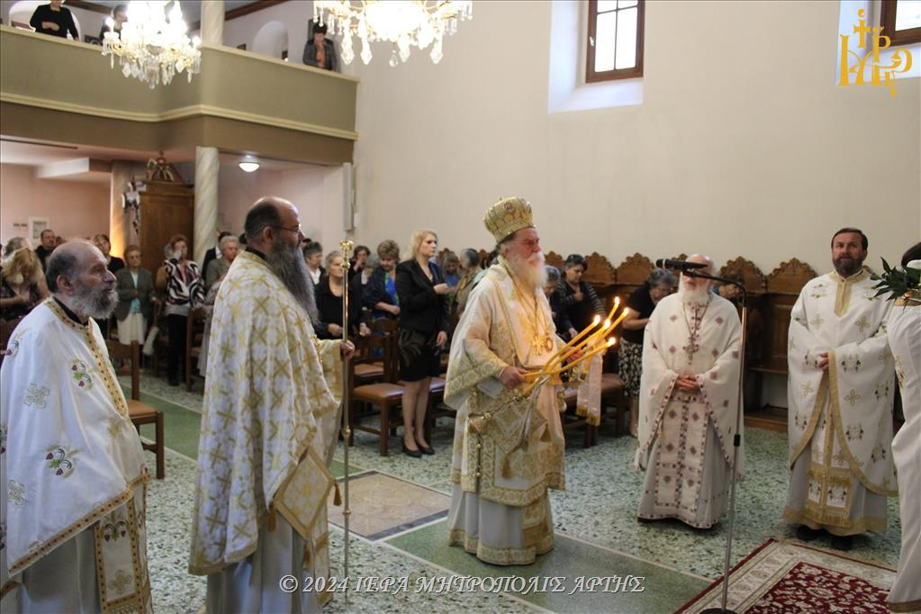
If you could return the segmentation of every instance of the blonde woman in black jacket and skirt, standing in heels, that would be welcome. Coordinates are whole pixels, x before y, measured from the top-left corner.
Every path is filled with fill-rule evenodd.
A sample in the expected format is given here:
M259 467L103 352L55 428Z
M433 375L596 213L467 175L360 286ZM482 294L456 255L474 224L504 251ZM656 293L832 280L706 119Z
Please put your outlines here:
M423 426L428 386L440 372L441 348L448 342L448 284L438 265L438 237L416 230L410 238L409 260L397 265L400 296L400 378L403 380L403 452L419 458L435 454Z

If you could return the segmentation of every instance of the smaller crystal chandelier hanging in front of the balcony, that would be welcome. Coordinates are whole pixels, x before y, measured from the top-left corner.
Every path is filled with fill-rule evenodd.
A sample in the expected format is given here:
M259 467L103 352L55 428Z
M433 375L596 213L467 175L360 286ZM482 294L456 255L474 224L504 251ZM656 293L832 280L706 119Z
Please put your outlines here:
M122 75L134 76L151 89L161 79L163 85L169 85L173 75L183 70L191 83L192 75L198 74L202 52L198 51L201 41L197 36L190 40L187 30L178 0L133 0L121 37L114 30L106 32L102 55L110 56L112 68L118 56Z

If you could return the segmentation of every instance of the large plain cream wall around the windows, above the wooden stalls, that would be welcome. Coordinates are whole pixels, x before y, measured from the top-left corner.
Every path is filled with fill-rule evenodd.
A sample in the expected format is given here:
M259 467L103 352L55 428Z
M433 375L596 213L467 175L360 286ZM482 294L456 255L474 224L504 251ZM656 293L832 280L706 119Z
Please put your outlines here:
M391 68L379 45L352 64L360 242L432 226L488 247L484 210L511 194L545 249L615 265L705 250L824 271L854 225L878 267L921 236L919 80L837 87L839 3L650 1L643 103L548 115L551 8L477 3L437 66Z

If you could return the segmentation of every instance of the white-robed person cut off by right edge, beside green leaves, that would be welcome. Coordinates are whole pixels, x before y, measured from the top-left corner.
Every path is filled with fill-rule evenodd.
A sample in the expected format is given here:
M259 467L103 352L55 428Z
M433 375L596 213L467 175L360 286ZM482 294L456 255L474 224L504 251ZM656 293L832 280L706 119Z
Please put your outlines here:
M909 249L903 265L919 270L918 259L921 243ZM893 612L921 612L921 288L915 287L895 299L887 329L905 418L892 439L899 482L902 552L888 605Z

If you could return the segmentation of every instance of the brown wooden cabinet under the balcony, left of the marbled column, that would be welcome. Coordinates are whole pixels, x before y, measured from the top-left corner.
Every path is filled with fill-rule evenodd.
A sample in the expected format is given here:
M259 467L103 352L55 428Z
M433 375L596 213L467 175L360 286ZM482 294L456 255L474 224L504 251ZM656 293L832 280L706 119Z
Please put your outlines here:
M146 181L147 189L141 192L141 243L143 266L157 273L163 263L163 247L173 235L189 239L188 254L194 253L195 191L192 186L169 181Z

